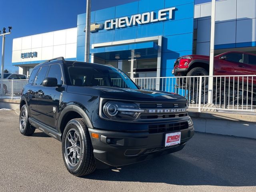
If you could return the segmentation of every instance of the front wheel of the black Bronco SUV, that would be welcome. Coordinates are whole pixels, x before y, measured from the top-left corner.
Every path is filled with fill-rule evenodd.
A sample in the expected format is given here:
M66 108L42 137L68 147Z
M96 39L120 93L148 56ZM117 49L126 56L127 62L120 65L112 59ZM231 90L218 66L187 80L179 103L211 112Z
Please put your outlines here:
M62 157L68 172L75 176L88 175L96 169L90 134L82 118L72 119L66 125Z

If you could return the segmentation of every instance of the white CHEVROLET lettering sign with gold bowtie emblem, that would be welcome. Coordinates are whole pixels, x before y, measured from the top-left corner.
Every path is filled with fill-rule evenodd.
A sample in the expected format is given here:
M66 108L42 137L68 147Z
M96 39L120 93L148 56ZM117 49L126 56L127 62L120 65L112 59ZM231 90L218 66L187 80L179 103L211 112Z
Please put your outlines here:
M166 8L159 10L158 13L155 12L146 12L142 14L136 14L132 15L130 18L128 16L116 18L116 19L110 19L106 20L104 24L97 24L93 23L90 26L91 32L98 32L98 30L113 30L118 28L126 28L130 26L136 26L136 25L143 25L143 24L149 24L159 21L166 21L169 19L172 19L172 13L176 10L175 7L172 8ZM85 32L85 30L84 30Z

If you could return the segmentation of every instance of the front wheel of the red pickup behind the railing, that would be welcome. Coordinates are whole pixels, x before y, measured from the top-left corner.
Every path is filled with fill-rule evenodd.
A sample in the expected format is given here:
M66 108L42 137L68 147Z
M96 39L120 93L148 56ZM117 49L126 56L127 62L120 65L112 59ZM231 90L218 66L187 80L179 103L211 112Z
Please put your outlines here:
M208 75L209 75L209 72L202 67L192 68L187 73L187 76L208 76ZM194 84L194 88L197 87L197 83L199 86L199 78L187 78L187 84L190 85L190 87L193 87L193 84ZM208 84L208 78L202 78L202 86L204 86L204 83Z

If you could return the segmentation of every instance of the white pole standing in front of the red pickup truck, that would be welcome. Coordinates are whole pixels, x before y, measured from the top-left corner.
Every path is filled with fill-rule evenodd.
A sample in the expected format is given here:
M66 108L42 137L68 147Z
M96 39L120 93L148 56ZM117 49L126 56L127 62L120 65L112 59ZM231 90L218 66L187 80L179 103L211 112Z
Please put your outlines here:
M213 67L214 67L214 39L215 39L215 0L212 0L212 16L211 16L211 40L210 40L210 65L208 80L208 103L212 104L213 92Z

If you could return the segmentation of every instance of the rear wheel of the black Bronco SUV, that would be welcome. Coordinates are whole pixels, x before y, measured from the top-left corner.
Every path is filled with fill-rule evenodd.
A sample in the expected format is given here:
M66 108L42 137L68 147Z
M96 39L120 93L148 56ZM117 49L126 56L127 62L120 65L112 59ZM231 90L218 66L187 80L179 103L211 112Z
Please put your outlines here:
M25 136L32 135L36 128L30 125L28 122L28 109L26 105L23 105L20 109L20 133Z

